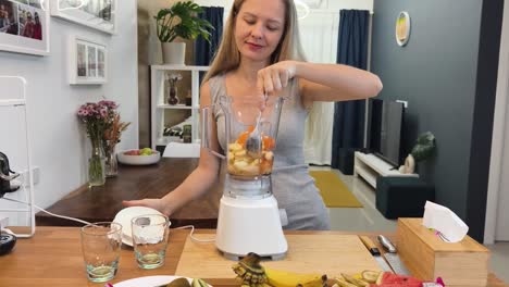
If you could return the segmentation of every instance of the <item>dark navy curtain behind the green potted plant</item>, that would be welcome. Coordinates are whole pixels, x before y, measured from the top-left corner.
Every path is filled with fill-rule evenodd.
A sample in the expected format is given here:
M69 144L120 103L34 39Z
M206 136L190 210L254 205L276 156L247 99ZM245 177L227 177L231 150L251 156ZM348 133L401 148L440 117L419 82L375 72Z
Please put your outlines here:
M207 20L214 27L211 30L210 43L202 37L195 41L195 65L210 65L223 36L223 13L222 7L203 7L203 12L199 14L200 18Z

